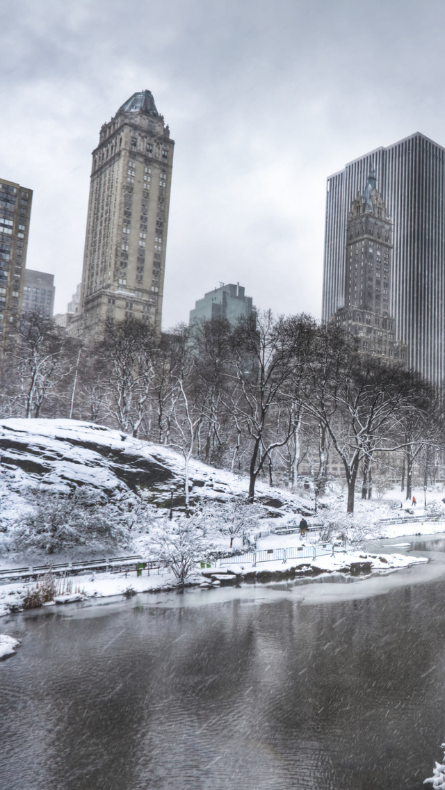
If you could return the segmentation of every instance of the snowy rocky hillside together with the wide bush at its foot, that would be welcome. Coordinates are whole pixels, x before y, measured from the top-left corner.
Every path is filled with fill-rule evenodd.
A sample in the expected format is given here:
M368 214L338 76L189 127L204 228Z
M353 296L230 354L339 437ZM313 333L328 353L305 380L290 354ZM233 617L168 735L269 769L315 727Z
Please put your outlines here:
M151 526L185 505L184 461L92 423L68 419L0 422L0 555L141 550ZM244 500L248 480L190 462L190 506ZM300 518L311 502L258 484L261 517ZM267 529L267 521L262 529ZM258 527L257 527L258 529ZM260 525L261 529L261 525ZM83 547L83 548L82 548ZM28 560L27 560L28 561Z

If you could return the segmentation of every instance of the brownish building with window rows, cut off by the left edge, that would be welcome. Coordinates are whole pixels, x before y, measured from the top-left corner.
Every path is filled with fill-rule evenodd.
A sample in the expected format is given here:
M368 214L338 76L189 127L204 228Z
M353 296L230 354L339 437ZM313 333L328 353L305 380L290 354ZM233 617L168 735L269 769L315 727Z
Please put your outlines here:
M0 349L13 344L23 299L32 190L0 180Z

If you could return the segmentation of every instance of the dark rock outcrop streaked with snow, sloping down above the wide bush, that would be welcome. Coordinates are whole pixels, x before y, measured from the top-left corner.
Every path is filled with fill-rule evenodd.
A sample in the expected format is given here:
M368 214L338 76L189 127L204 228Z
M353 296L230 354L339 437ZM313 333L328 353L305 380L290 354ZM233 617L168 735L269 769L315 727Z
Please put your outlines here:
M31 486L73 490L90 486L107 498L145 490L157 507L183 506L183 456L169 447L143 442L95 423L75 419L3 419L0 421L0 472L19 497ZM15 479L15 482L14 482ZM200 461L190 461L190 502L227 502L247 495L248 480ZM270 514L310 513L310 503L257 483L257 498ZM173 499L172 499L173 497ZM279 508L279 510L278 510ZM273 512L274 511L274 512Z

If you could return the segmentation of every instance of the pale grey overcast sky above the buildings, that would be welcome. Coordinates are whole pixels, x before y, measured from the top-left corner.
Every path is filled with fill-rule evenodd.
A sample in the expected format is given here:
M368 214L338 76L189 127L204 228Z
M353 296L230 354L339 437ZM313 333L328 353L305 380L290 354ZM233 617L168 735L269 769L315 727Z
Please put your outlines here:
M81 280L91 152L132 93L175 140L164 328L219 281L319 317L326 176L445 145L443 0L0 2L0 178L34 190L27 266Z

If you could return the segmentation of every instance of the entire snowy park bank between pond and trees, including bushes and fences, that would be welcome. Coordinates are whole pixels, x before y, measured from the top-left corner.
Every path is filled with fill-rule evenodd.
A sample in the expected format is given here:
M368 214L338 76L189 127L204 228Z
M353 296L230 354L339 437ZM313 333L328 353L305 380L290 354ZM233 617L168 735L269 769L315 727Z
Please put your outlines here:
M320 574L389 574L428 557L403 536L445 531L443 491L357 500L332 480L319 497L248 480L120 431L73 420L6 419L0 430L0 612L194 585ZM375 545L374 545L375 544ZM42 589L45 589L45 592Z

